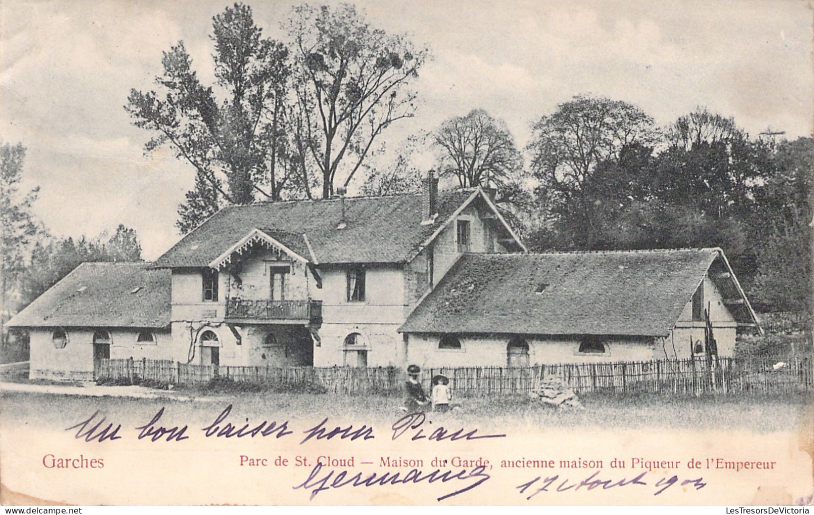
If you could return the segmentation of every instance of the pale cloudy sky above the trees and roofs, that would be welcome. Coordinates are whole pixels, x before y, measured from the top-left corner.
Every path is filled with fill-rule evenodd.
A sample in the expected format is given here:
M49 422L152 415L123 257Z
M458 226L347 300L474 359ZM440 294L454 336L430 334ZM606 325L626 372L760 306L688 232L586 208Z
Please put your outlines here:
M246 3L266 36L284 37L295 2ZM659 125L705 106L752 135L814 132L814 11L802 0L356 3L371 24L433 56L414 84L415 117L383 132L390 147L483 108L523 148L532 123L580 93L631 102ZM151 89L161 52L180 40L211 82L212 16L227 5L3 0L0 139L28 149L24 185L41 188L33 211L52 234L125 223L147 259L180 238L177 206L195 171L169 149L145 156L150 134L124 105L130 89ZM432 155L416 164L429 169Z

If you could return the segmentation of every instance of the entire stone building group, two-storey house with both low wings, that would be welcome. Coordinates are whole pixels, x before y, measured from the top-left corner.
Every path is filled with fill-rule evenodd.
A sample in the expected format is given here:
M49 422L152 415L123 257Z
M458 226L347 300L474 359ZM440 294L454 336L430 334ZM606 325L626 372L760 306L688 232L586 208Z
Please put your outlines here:
M484 188L229 206L153 263L85 263L7 327L94 359L523 366L717 353L755 314L720 249L530 254Z

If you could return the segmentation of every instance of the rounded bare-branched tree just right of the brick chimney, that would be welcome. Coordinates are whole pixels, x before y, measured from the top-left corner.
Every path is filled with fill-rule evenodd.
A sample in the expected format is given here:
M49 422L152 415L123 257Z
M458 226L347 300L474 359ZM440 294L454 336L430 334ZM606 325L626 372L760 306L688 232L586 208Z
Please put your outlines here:
M441 174L454 175L462 188L500 188L523 169L523 156L503 120L483 109L446 120L433 134L440 149Z

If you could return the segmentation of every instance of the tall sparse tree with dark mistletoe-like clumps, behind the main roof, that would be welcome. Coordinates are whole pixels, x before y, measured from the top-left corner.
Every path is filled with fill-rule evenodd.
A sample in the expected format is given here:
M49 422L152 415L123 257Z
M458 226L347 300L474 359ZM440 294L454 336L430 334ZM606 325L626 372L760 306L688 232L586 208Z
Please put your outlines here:
M344 186L392 123L412 117L409 89L427 58L403 36L372 27L351 4L296 6L287 29L295 54L300 143L322 174L322 197Z

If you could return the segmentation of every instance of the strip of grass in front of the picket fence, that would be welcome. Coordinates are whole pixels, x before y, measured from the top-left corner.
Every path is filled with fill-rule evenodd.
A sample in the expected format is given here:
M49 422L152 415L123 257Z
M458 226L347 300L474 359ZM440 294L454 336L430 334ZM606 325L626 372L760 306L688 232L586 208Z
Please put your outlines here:
M186 393L186 392L185 392ZM129 397L58 396L27 392L4 392L0 422L24 422L38 426L64 428L90 416L115 413L120 422L147 422L162 406L166 413L190 423L206 426L225 408L234 405L237 420L302 420L359 426L363 423L388 426L403 413L399 397L330 396L292 393L243 393L209 395L199 401L173 400L169 392L162 399ZM811 431L812 394L774 398L752 396L672 397L584 396L584 409L557 409L523 397L461 399L461 409L453 413L433 413L431 418L453 425L479 427L596 427L596 428L672 428L732 429L743 431Z

